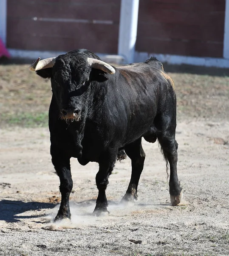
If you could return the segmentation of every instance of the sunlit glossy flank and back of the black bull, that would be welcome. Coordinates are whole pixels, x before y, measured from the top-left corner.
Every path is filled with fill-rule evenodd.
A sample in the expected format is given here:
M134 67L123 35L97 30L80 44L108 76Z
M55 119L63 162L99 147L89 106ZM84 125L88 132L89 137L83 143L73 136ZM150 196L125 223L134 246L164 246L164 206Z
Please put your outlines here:
M119 67L115 84L108 86L111 124L124 144L147 134L164 104L170 86L163 68L149 63L136 63ZM122 130L122 131L121 131Z

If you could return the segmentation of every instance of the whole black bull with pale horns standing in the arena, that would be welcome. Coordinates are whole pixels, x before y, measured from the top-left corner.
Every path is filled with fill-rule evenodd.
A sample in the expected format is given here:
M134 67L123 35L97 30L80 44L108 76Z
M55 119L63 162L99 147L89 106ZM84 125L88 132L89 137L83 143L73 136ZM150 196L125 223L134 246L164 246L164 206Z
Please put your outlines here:
M45 64L39 60L30 68L50 78L53 91L49 109L51 156L62 196L55 220L71 217L71 157L82 165L99 163L96 215L107 212L108 177L125 153L131 159L132 174L122 200L137 199L145 159L141 137L151 143L158 139L170 164L171 203L179 204L182 190L177 176L176 95L161 62L150 58L118 68L102 61L100 66L92 65L91 61L98 62L99 57L85 49L45 59Z

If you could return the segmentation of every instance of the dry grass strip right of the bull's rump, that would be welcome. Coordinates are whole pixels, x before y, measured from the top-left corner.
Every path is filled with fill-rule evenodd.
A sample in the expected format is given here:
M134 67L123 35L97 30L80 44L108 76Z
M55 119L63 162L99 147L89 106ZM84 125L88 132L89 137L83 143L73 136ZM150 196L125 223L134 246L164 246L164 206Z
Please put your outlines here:
M229 119L229 76L170 73L175 81L178 113Z

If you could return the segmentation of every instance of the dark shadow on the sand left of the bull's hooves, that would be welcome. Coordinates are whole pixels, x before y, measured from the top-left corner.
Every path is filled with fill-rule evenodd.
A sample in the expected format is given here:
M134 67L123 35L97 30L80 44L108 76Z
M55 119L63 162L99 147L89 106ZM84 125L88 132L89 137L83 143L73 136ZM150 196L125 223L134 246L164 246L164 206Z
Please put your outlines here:
M2 200L0 201L0 220L7 222L17 222L23 218L40 218L43 215L32 215L32 216L17 216L17 214L27 212L29 210L39 210L39 209L51 209L54 208L56 204L51 203L41 203L41 202L23 202L23 201L11 201Z

